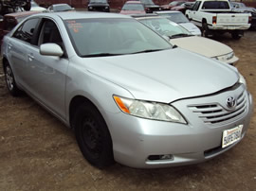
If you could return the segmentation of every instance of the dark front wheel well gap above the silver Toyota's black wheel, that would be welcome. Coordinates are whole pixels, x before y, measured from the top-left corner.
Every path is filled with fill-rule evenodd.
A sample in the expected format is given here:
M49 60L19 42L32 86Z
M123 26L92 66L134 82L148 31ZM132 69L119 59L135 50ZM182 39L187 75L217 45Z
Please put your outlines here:
M78 108L78 106L82 105L85 102L91 103L92 105L94 105L89 99L87 99L84 96L73 97L69 104L69 123L72 129L74 128L73 118L76 113L76 109ZM95 106L95 108L97 107Z

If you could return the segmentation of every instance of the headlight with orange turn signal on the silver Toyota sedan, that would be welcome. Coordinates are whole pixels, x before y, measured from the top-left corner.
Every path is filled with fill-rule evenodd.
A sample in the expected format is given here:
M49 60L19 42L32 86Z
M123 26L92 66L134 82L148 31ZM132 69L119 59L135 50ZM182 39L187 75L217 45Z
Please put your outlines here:
M114 99L123 113L147 119L187 124L183 116L168 104L123 98L120 96L114 96Z

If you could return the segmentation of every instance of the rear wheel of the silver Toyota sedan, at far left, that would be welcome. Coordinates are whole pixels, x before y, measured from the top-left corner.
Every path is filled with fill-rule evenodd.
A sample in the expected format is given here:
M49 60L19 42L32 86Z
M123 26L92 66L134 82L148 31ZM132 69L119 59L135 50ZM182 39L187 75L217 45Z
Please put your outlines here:
M11 96L21 96L22 91L17 87L12 69L8 62L4 63L4 72L7 88Z

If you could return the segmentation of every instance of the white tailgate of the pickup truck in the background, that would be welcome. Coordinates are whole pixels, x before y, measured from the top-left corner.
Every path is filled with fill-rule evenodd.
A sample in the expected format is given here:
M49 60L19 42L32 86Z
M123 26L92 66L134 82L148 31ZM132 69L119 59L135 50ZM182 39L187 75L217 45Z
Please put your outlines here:
M217 13L218 25L247 25L248 13Z

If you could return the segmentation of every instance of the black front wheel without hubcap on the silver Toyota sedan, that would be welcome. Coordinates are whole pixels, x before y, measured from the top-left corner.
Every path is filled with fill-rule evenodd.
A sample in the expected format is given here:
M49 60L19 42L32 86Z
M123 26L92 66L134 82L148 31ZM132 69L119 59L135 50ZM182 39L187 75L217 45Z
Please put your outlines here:
M112 139L106 123L90 102L76 110L72 120L76 139L84 158L98 168L114 164Z

